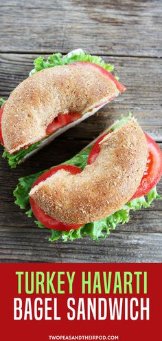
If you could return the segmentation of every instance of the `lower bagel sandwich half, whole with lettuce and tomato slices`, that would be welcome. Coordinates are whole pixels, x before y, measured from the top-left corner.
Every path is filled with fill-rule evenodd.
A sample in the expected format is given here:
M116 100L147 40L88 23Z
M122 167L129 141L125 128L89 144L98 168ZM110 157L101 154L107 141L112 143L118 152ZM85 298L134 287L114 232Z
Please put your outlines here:
M16 205L51 229L50 241L98 240L127 223L130 209L160 198L162 153L130 116L122 117L71 160L19 179Z

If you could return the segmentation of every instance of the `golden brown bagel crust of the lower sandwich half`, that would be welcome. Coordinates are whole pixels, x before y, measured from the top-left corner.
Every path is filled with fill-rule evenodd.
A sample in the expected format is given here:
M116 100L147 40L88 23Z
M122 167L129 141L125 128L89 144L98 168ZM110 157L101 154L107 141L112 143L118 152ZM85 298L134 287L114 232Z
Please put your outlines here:
M51 217L65 223L100 220L135 194L148 157L146 137L134 118L108 134L92 165L80 174L60 170L35 186L30 196Z

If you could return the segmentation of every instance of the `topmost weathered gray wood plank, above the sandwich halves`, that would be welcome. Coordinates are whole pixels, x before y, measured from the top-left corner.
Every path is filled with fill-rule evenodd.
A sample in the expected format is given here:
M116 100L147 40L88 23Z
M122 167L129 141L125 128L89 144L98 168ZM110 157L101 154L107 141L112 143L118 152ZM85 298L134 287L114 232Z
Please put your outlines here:
M1 52L161 56L161 1L1 0Z

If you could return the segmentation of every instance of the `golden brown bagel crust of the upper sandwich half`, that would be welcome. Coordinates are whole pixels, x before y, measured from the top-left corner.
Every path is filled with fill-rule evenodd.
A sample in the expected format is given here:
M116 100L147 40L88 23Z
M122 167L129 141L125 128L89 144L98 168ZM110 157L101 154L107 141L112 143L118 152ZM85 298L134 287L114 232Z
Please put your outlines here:
M45 138L59 113L87 112L119 90L104 74L82 65L42 70L25 79L10 94L2 116L2 136L9 153Z

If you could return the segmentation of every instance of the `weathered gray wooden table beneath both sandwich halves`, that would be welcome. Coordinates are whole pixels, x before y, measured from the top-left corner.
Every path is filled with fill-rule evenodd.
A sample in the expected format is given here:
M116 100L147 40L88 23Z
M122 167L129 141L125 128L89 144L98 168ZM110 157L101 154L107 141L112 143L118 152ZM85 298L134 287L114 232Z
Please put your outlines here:
M8 98L40 54L75 48L114 63L128 87L100 114L69 130L17 169L11 170L0 159L1 262L161 262L160 200L150 209L132 213L130 223L99 243L88 238L49 243L47 231L38 229L14 205L12 191L20 176L70 158L128 111L161 145L162 2L1 0L0 4L0 96ZM160 185L158 189L162 194Z

